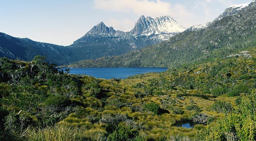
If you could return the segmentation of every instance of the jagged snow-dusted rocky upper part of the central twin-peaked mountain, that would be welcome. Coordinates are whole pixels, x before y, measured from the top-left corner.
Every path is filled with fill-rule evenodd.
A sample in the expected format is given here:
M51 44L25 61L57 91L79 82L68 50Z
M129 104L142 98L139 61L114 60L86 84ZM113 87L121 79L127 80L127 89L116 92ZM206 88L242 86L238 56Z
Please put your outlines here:
M134 28L129 32L116 31L113 27L107 27L103 22L100 22L74 43L95 41L95 37L114 37L111 40L133 40L139 36L163 41L185 31L185 29L170 16L161 16L153 19L152 17L142 15L136 21Z

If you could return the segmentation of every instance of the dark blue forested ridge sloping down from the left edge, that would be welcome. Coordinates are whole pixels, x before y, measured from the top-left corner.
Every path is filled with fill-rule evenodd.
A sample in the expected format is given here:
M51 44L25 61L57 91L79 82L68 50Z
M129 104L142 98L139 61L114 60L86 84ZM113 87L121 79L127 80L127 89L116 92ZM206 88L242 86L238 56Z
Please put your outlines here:
M47 56L51 63L65 64L70 58L70 48L41 43L28 38L16 38L0 32L0 56L10 59L30 61L36 55ZM70 62L71 63L71 62Z

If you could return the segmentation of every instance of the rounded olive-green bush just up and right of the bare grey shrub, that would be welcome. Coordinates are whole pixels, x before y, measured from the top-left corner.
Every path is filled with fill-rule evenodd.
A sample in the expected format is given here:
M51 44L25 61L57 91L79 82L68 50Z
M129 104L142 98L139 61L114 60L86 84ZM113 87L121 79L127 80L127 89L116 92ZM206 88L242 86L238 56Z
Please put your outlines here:
M229 113L233 110L233 107L228 102L217 101L214 102L214 104L211 106L211 109L220 113Z

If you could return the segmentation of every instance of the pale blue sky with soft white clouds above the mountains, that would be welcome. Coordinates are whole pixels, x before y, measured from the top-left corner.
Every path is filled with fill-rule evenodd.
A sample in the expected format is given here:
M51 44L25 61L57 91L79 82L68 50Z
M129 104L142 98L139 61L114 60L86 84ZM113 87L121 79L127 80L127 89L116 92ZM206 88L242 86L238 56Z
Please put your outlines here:
M218 17L230 5L252 0L0 0L0 32L71 45L101 21L130 31L141 15L169 15L185 28Z

